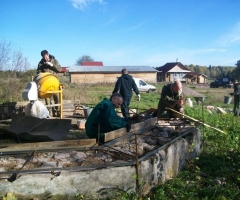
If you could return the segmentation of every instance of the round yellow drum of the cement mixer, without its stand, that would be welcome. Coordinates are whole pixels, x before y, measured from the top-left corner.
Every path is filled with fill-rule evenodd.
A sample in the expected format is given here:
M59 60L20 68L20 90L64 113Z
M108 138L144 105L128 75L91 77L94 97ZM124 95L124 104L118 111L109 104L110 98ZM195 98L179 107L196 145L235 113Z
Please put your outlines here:
M34 79L37 83L38 97L41 99L50 98L53 96L54 91L59 91L60 89L58 78L49 72L39 73Z

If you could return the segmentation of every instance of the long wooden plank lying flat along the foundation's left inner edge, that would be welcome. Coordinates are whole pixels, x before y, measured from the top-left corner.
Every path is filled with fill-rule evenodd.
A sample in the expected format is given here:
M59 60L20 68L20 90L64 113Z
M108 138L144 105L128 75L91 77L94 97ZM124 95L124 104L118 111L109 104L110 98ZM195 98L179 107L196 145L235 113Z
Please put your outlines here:
M53 142L36 142L1 145L0 154L4 152L20 152L20 151L38 151L38 150L67 150L76 148L90 148L96 144L96 139L66 140Z

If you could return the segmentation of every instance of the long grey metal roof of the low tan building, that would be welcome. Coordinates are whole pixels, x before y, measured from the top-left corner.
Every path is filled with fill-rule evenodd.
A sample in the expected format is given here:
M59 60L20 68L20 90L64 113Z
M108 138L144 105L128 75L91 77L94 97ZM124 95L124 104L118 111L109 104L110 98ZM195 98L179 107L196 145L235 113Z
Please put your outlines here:
M129 72L158 72L150 66L69 66L69 72L121 72L124 68Z

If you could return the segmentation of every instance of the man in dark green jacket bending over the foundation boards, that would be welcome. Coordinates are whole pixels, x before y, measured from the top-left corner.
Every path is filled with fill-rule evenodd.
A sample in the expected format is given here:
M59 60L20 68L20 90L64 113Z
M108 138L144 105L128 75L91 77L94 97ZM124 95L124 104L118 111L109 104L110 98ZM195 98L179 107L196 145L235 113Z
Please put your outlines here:
M122 103L122 96L115 93L110 97L110 100L104 98L103 101L94 107L85 124L86 134L89 138L98 140L99 134L100 142L103 143L104 134L107 132L123 127L126 127L127 132L130 131L131 125L119 117L115 111L115 108L120 108ZM98 130L99 126L100 130Z

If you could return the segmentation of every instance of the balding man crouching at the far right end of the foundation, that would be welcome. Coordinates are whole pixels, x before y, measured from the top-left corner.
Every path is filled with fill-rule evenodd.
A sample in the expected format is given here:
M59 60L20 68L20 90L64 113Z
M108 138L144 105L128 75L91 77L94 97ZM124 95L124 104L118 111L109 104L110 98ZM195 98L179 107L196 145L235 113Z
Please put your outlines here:
M178 117L182 118L180 114L174 113L173 111L166 110L169 107L173 110L183 113L183 94L182 94L182 83L179 80L174 81L168 85L164 85L162 88L161 98L158 103L158 118L171 118Z

